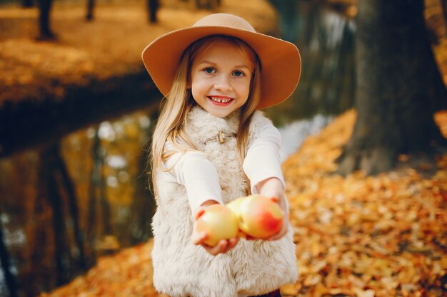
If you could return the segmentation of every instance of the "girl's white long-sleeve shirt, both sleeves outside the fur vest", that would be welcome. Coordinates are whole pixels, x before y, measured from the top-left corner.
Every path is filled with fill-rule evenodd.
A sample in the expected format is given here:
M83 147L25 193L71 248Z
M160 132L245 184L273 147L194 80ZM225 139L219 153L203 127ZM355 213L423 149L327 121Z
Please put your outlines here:
M165 149L172 148L166 142ZM281 134L271 124L263 125L256 140L248 147L247 155L243 161L243 171L251 184L251 192L258 193L257 185L271 177L279 179L285 186L281 172ZM194 211L209 200L220 204L222 201L219 176L214 165L206 159L202 152L176 152L164 162L167 172L162 172L168 182L183 184L188 195L189 205Z

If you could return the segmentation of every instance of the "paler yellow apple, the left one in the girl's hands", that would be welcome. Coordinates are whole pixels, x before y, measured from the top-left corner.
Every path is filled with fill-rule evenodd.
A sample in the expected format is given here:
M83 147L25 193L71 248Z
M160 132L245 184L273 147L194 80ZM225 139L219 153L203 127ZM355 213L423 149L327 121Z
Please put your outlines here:
M238 218L228 207L213 204L206 207L197 218L196 230L207 234L205 244L216 246L222 239L231 239L238 235Z

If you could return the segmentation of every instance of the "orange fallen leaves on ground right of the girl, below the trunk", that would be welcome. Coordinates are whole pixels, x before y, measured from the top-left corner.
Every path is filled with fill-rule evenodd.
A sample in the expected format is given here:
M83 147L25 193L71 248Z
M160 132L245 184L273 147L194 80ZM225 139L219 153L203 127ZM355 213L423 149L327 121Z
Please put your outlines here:
M374 177L331 174L355 118L341 115L283 165L301 271L283 295L445 296L447 155L401 156ZM436 122L447 137L447 112Z

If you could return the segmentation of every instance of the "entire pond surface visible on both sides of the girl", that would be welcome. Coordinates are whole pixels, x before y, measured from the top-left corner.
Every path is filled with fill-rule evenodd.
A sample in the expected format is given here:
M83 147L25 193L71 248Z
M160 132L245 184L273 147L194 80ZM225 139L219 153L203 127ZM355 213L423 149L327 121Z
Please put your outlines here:
M272 1L281 36L303 60L295 93L266 110L283 135L285 160L351 107L355 27L309 1L281 1ZM144 172L154 119L154 110L140 110L0 160L0 223L18 296L50 291L98 256L149 239L154 203ZM4 278L0 296L9 296Z

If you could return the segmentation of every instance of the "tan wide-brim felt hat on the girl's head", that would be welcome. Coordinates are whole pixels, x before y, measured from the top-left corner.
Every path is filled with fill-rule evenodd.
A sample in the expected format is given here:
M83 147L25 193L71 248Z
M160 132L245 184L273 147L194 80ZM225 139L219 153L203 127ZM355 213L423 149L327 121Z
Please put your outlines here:
M301 74L301 58L293 43L257 33L248 21L232 14L211 14L193 26L156 38L142 53L143 63L163 95L171 85L183 52L191 43L206 36L233 36L247 43L261 61L261 100L267 108L286 100Z

